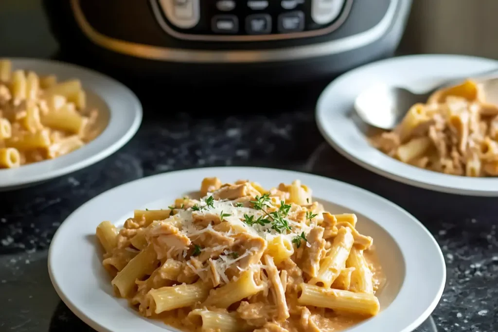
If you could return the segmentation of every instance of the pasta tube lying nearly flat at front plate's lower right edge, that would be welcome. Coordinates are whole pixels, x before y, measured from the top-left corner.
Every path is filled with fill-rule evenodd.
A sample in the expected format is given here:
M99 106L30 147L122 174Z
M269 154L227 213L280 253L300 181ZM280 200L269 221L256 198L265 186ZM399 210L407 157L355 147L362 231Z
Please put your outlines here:
M302 283L297 303L343 311L351 314L374 316L380 310L378 299L373 294L354 293L339 289L324 288Z

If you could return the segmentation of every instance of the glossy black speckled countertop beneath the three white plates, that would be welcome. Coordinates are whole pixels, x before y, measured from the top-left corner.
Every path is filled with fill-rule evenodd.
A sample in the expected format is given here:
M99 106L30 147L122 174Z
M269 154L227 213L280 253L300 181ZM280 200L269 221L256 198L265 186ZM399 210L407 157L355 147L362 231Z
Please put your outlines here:
M166 94L168 103L145 103L148 97L139 94L144 120L120 151L68 176L0 193L0 331L92 331L50 283L47 250L57 227L80 205L117 185L160 172L220 165L325 175L400 205L435 236L447 266L441 302L416 331L498 331L497 199L434 193L349 162L316 128L313 109L322 88L284 91L272 99L247 92L223 105L221 98L205 94L188 104L197 110L189 113L171 109L171 99L180 98L174 93Z

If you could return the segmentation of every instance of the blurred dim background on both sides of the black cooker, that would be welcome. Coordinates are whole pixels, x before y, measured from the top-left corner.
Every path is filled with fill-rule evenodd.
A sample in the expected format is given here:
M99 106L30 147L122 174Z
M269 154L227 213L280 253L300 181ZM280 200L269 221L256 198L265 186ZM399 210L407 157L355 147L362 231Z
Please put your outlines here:
M10 57L49 58L58 51L43 0L0 1L0 50ZM398 52L497 58L496 0L416 0Z

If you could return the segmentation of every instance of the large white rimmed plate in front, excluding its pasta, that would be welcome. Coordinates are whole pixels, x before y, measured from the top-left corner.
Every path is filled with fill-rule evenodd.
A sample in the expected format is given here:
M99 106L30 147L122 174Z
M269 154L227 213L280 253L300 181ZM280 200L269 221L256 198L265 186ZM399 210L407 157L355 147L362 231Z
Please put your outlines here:
M363 189L320 176L249 167L202 168L160 174L105 192L81 206L57 230L48 253L48 270L64 303L98 331L176 331L142 318L113 295L102 267L95 228L104 220L122 224L132 209L167 207L177 197L198 191L204 177L224 182L251 179L264 187L300 179L332 213L354 212L358 228L373 237L386 274L377 292L381 312L351 332L409 332L437 305L446 280L443 255L427 229L406 211ZM423 291L420 287L423 285Z

